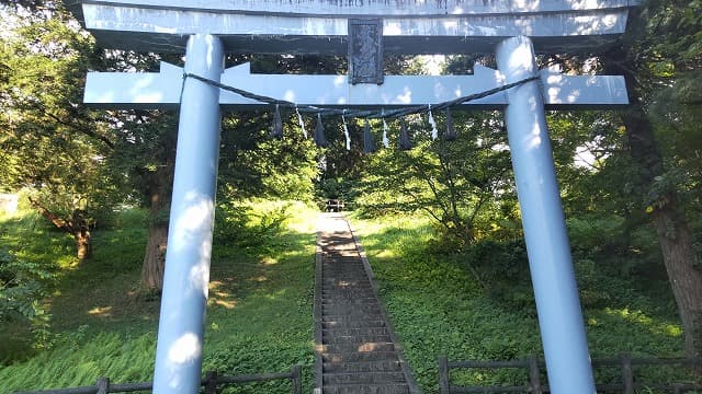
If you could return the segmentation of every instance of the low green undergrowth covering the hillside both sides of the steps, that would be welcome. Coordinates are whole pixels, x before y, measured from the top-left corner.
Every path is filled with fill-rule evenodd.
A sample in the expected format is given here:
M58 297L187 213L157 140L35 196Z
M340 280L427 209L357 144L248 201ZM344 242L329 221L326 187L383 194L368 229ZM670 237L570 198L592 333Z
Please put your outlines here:
M301 202L220 204L215 227L203 369L223 374L287 371L313 385L315 223ZM450 360L543 357L526 252L517 236L478 240L456 252L420 213L351 216L381 297L424 393L438 393L440 356ZM593 357L677 357L682 331L653 234L618 240L621 220L568 221ZM72 240L31 213L0 220L2 301L0 392L152 379L159 302L139 293L148 215L115 213L97 229L81 264ZM22 264L31 262L32 264ZM15 269L22 266L22 269ZM9 280L14 280L10 282ZM21 290L24 288L24 290ZM24 291L24 292L23 292ZM35 291L35 292L33 292ZM19 303L24 306L20 306ZM619 379L598 370L599 382ZM638 370L650 382L668 369ZM463 370L456 384L521 384L514 370ZM288 381L226 393L287 393Z

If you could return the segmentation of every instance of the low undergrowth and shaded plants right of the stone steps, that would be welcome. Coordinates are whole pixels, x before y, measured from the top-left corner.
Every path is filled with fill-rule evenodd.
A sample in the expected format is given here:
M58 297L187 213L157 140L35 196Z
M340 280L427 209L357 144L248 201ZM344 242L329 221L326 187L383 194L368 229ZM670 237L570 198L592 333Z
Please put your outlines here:
M423 216L354 215L352 223L424 393L439 391L440 356L509 360L535 355L543 359L522 241L477 242L456 253L433 240L435 231ZM630 275L634 266L655 270L653 264L642 268L642 262L633 262L643 258L639 254L655 257L655 252L632 251L645 248L652 235L637 234L634 237L639 240L630 248L612 253L600 247L608 243L598 243L613 233L603 225L569 223L592 357L682 356L682 332L665 274ZM644 381L665 382L675 372L657 368L636 373ZM618 380L620 373L598 370L596 380ZM456 384L523 384L525 379L525 373L514 370L452 373Z

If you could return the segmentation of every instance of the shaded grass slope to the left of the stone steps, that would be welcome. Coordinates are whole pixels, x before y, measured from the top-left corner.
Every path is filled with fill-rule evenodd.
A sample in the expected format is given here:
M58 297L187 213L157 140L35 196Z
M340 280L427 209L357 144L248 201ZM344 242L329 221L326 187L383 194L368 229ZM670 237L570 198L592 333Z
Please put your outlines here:
M291 210L293 217L303 213ZM301 221L305 220L291 220ZM8 383L0 379L0 392L93 384L101 375L115 383L151 379L159 302L146 302L135 293L146 225L123 221L97 231L94 242L93 257L63 271L57 281L50 300L54 347L0 369L0 378L12 376ZM261 247L214 245L204 370L228 375L280 372L314 360L314 230L281 225L258 244ZM105 335L110 344L122 346L97 351L107 345ZM304 371L305 392L310 392L310 369ZM288 392L283 386L270 392Z

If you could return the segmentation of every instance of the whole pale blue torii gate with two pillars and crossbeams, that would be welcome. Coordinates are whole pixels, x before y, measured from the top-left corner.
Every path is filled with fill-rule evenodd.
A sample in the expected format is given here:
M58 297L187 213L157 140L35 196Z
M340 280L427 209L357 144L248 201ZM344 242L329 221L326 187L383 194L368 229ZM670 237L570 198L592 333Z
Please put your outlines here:
M463 105L505 109L551 391L592 394L570 247L544 107L626 104L621 77L539 71L534 50L597 50L624 32L635 0L83 0L82 19L114 48L185 51L184 69L90 72L84 102L104 108L180 105L155 393L196 393L210 280L222 108L264 105L184 74L301 105L428 105L531 81ZM498 70L474 76L257 76L223 69L226 51L344 54L350 20L378 23L385 53L495 51ZM535 48L535 49L534 49ZM381 55L382 51L381 50ZM376 76L377 77L377 76ZM182 103L182 105L181 105Z

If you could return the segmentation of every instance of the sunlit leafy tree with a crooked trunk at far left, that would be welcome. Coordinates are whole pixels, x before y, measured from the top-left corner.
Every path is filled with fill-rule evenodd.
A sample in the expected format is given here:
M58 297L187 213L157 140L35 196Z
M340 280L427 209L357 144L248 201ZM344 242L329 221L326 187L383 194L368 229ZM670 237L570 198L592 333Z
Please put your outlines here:
M0 184L31 190L32 206L90 256L91 229L109 206L104 157L112 147L79 103L94 55L92 39L61 9L3 18L13 28L0 48Z

